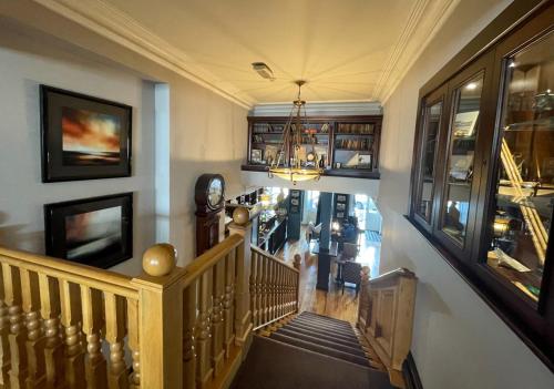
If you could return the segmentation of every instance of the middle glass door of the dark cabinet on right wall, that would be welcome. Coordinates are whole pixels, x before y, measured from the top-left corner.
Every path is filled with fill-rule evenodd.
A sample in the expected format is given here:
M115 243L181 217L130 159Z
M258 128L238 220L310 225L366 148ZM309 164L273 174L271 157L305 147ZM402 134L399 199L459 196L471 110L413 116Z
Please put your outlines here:
M460 247L468 234L483 81L484 73L479 73L453 92L440 228Z

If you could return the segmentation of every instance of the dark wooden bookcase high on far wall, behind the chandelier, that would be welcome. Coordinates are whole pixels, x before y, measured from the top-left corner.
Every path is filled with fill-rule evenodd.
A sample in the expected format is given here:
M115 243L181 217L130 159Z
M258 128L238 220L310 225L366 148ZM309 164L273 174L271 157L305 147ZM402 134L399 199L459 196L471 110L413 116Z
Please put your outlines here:
M283 151L283 131L288 117L248 117L248 161L243 170L266 171ZM300 161L310 162L317 153L324 175L379 178L381 115L308 116L302 135ZM305 122L302 121L302 124ZM294 124L293 124L294 125ZM283 164L283 162L281 162Z

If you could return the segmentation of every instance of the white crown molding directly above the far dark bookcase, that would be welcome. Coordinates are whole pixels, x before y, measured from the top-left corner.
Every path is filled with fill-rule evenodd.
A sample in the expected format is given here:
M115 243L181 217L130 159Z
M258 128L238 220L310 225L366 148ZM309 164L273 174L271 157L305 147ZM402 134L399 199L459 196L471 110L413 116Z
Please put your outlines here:
M256 104L250 110L252 116L288 116L293 103L265 103ZM334 101L334 102L307 102L306 114L317 115L382 115L379 102L369 101Z

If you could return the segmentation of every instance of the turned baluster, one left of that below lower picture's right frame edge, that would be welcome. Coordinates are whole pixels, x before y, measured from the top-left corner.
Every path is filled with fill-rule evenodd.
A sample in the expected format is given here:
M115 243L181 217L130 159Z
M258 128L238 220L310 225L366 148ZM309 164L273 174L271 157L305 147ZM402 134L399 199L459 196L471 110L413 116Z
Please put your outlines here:
M105 386L107 380L106 364L102 355L101 329L104 325L102 304L102 293L100 290L81 286L83 332L86 336L88 361L85 364L85 377L88 388Z

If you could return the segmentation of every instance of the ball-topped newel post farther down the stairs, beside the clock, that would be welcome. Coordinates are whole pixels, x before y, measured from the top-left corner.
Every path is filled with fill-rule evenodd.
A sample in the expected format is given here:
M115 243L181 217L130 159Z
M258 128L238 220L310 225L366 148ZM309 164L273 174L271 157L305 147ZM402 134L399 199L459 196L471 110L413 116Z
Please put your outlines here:
M250 310L250 264L252 264L252 222L248 209L238 207L233 213L229 224L230 234L242 235L244 244L237 248L236 294L235 294L235 334L238 346L244 345L253 328Z

